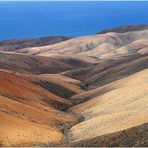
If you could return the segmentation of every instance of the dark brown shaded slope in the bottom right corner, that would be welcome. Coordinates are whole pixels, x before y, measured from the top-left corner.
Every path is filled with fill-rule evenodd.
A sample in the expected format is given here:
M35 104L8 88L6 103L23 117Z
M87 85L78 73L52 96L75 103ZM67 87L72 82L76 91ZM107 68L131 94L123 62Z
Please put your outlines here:
M148 123L140 124L119 132L72 142L73 147L147 147Z

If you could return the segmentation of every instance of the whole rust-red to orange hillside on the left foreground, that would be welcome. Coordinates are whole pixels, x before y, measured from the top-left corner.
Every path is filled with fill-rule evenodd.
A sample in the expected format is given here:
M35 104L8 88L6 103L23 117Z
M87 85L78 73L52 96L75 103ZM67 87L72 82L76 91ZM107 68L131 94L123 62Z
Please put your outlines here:
M1 145L61 143L63 130L79 122L78 115L61 111L71 106L70 101L30 78L1 70L0 82Z

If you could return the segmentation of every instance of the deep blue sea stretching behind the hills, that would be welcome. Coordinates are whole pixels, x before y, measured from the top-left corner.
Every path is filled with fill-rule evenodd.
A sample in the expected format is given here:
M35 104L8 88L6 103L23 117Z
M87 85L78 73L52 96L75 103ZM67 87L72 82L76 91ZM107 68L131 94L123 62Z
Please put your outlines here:
M0 2L0 40L93 35L148 24L148 2Z

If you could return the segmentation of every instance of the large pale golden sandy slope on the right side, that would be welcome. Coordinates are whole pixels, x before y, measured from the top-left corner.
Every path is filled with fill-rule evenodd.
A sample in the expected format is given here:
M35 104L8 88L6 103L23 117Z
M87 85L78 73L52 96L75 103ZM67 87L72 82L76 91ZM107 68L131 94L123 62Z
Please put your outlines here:
M148 69L106 86L110 87L114 89L70 108L85 118L70 129L72 142L81 143L148 122Z

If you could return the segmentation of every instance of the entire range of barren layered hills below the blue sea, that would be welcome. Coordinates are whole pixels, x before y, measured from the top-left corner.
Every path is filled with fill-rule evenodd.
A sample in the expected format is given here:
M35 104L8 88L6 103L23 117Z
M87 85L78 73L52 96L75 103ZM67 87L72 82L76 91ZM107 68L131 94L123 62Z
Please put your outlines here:
M0 145L148 146L148 26L1 41Z

